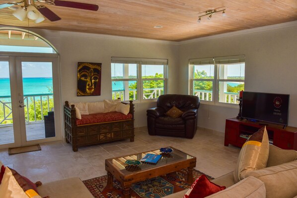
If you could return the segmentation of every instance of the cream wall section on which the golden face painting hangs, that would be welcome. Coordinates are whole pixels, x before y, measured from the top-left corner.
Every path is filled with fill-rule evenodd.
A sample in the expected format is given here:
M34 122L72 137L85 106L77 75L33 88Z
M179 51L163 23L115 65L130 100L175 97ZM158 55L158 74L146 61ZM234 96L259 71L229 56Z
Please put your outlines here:
M59 51L62 76L62 104L93 102L112 98L111 57L168 59L167 93L175 93L178 82L176 42L115 37L107 35L32 30L48 39ZM101 95L76 96L77 62L102 63ZM147 109L156 101L135 104L135 127L147 126Z

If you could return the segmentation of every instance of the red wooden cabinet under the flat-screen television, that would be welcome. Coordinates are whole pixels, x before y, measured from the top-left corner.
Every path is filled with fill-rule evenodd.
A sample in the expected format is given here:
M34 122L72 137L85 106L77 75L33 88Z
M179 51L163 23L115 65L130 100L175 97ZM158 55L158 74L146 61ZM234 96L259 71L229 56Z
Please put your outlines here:
M297 150L296 127L286 127L286 129L282 129L281 125L265 122L255 123L247 120L238 120L236 118L226 120L224 145L228 146L232 144L242 147L248 135L257 132L263 126L266 126L270 143L283 149Z

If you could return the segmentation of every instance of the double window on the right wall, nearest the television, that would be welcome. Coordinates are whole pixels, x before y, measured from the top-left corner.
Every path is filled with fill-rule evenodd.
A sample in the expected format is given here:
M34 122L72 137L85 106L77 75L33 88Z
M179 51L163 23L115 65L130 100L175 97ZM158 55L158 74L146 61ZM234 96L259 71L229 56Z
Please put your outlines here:
M190 59L191 94L206 103L238 104L244 90L244 55Z

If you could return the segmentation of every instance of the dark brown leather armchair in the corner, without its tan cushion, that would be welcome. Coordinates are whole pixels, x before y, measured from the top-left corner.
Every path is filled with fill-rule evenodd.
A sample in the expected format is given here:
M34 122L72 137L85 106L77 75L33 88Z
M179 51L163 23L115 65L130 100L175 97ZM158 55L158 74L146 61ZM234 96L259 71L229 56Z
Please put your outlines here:
M165 113L173 106L183 111L179 118ZM192 95L165 94L157 99L157 107L147 110L148 134L193 138L197 130L199 97Z

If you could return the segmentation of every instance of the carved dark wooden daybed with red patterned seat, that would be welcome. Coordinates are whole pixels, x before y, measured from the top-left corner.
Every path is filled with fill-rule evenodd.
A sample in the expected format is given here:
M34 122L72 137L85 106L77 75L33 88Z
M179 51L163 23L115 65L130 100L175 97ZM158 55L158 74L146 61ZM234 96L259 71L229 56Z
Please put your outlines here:
M106 101L104 100L104 102ZM106 103L104 112L92 113L94 112L94 109L91 107L91 105L95 105L94 103L87 103L89 104L88 108L90 114L81 114L81 119L77 119L77 115L75 112L77 108L74 104L70 105L68 101L65 101L65 137L66 142L72 144L74 152L77 151L77 148L80 146L110 142L127 138L130 138L130 141L134 141L133 101L130 101L130 104L123 102L121 103L130 105L129 113L127 111L127 115L116 111L107 111L107 113L104 113L106 112ZM115 107L113 109L115 109Z

